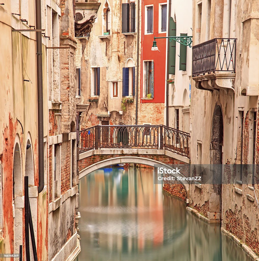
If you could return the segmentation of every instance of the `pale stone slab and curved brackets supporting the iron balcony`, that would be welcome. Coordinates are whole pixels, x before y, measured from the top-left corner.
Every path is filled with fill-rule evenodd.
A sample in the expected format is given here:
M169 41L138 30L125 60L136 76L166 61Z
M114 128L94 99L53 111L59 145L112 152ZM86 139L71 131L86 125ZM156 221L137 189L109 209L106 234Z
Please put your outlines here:
M200 90L207 90L211 93L213 90L235 91L235 73L212 73L193 77L195 87Z

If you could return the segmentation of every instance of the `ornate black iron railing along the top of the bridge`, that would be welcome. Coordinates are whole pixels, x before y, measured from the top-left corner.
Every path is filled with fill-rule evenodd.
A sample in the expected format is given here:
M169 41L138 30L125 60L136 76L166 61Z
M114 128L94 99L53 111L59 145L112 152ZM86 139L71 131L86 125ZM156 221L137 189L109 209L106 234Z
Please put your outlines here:
M80 131L79 152L103 148L165 149L189 158L190 135L164 125L96 125Z

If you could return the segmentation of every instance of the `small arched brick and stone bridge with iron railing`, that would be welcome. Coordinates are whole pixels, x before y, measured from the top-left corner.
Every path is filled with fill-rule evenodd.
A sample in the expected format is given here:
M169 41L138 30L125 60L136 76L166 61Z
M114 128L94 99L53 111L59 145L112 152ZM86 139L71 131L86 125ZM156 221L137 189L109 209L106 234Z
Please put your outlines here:
M190 164L189 141L189 133L164 125L97 125L84 129L79 133L79 179L120 163L151 167ZM188 182L178 185L180 190L184 188L188 199Z

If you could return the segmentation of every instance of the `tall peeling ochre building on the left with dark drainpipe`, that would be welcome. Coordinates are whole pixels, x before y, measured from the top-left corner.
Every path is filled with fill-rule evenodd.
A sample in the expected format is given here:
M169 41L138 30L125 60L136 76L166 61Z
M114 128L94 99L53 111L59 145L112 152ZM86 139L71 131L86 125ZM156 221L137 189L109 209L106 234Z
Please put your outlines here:
M22 260L32 260L33 250L38 260L74 260L80 252L74 10L71 1L42 7L23 0L0 6L0 253L22 246Z

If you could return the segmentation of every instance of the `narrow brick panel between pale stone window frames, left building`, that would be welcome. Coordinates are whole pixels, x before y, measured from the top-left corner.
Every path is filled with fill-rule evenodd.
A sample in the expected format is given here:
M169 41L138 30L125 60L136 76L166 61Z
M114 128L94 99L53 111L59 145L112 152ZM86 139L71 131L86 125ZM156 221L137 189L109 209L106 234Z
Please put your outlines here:
M61 195L70 188L70 141L64 141L61 149Z

